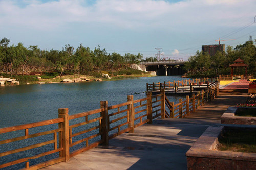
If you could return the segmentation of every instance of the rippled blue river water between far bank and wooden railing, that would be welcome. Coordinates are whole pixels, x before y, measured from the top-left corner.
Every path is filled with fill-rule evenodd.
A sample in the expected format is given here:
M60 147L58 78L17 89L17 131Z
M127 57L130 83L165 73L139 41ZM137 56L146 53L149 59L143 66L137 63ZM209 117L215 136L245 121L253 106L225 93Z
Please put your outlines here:
M134 95L134 99L145 98L146 83L177 80L181 80L181 77L156 76L103 82L0 86L0 128L58 118L58 108L69 108L69 114L72 115L98 109L100 108L100 101L108 101L108 105L111 106L126 102L127 95ZM168 96L168 99L175 103L178 102L179 98L181 97ZM35 130L31 130L30 132L33 134L38 130L43 131L44 128L35 128ZM24 131L16 131L5 135L0 134L0 141L23 135ZM52 136L49 136L49 138L51 137ZM26 141L0 145L0 153L25 147L28 143L38 143L42 140L45 139L27 139ZM48 146L2 157L0 164L20 159L24 156L29 157L39 154L42 151L48 151L49 148L47 147ZM37 164L56 158L57 156L58 153L55 153L40 158L39 160L31 160L30 164ZM24 168L24 163L4 169L20 168Z

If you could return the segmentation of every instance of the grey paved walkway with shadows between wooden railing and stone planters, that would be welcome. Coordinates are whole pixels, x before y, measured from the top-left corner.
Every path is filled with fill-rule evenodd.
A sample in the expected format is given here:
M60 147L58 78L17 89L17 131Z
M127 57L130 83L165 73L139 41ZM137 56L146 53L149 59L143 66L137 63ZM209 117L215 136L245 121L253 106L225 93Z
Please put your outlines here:
M191 145L208 126L220 126L228 106L245 103L247 96L218 96L184 119L156 119L111 139L108 148L94 148L44 169L187 169L185 153Z

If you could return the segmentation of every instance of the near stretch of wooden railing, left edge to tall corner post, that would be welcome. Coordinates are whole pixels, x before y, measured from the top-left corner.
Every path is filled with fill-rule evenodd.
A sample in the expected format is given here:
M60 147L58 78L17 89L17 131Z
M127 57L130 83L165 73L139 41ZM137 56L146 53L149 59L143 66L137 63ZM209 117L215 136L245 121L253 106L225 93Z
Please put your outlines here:
M0 168L26 162L26 165L24 166L25 168L39 169L58 162L67 162L70 157L90 148L97 147L99 144L108 145L109 139L124 132L134 132L134 128L145 123L151 124L154 118L164 115L162 110L164 101L163 95L164 94L153 96L147 95L146 98L138 100L133 100L133 96L129 95L127 97L127 102L113 106L108 106L107 101L101 101L101 107L99 109L75 115L69 115L68 108L60 108L58 110L59 118L57 119L1 128L0 160L1 163L4 163L0 165ZM45 128L47 129L46 131L29 134L30 128L39 127L40 129L44 129L44 126L52 124L56 124L55 129L52 126L49 126ZM7 133L13 133L20 130L24 130L25 135L19 134L19 136L14 138L8 137ZM35 130L32 130L31 132L34 131ZM36 137L49 134L53 134L52 139L48 140L49 136L44 138L44 140L46 140L44 142L40 142L40 140L36 139ZM6 137L3 138L3 135ZM34 141L31 142L31 140L28 140L30 138L34 138ZM17 141L22 141L23 143L20 144L17 143ZM31 144L30 142L35 144ZM8 146L5 147L6 144L10 143L12 146L16 145L16 147L14 147L15 149L9 150ZM25 147L19 148L18 145L25 145ZM16 156L12 154L22 154L23 151L33 153L33 149L39 149L46 145L48 147L48 151L46 152L41 152L40 154L35 155L32 154L29 157L13 160ZM44 157L53 153L58 153L57 156L55 154L54 159L38 164L30 163L35 162L35 159L38 159L39 157ZM6 158L6 156L9 156L9 158ZM5 162L3 160L10 161Z

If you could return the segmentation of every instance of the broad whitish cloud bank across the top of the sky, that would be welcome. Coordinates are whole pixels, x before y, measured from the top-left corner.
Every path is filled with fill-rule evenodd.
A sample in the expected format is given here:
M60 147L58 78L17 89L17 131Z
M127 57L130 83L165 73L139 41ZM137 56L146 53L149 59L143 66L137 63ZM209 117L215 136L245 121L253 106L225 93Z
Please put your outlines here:
M122 28L162 27L164 30L223 24L225 19L239 17L244 11L254 8L253 0L191 0L178 3L153 0L98 0L93 5L85 5L81 0L31 1L19 7L14 1L0 2L1 24L28 26L36 29L60 28L65 24L92 22L115 25ZM248 4L250 4L248 6ZM254 16L255 13L249 13ZM234 24L234 23L233 23Z

